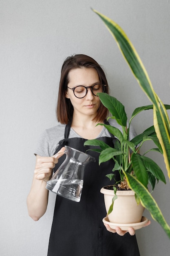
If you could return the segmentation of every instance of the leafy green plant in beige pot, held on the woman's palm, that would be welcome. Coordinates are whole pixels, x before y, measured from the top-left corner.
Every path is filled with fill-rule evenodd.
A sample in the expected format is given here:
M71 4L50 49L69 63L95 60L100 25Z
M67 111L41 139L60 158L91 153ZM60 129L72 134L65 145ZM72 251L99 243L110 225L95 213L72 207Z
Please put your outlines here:
M147 128L131 141L129 140L132 119L143 110L153 109L153 105L136 108L128 123L124 105L120 101L106 93L99 93L98 96L102 104L111 114L108 119L115 119L121 126L122 132L111 125L98 124L106 127L110 133L117 137L114 145L115 147L111 148L98 139L87 140L84 143L84 146L99 146L100 149L94 149L100 153L99 164L106 162L111 158L114 159L115 166L113 167L113 172L106 175L110 180L114 180L114 172L119 171L120 180L115 181L113 186L106 186L101 189L101 192L104 193L109 221L121 224L138 223L141 221L144 207L140 204L139 196L137 196L137 194L135 195L135 192L130 189L126 177L128 177L128 175L135 177L146 189L148 189L148 184L150 184L151 191L153 191L156 182L159 180L166 184L166 179L161 168L152 159L146 156L149 151L163 153L154 126ZM166 108L170 108L170 106L166 105ZM141 155L139 152L142 145L145 141L150 140L154 141L157 148L151 148ZM119 200L124 200L125 202L119 202ZM124 205L124 209L122 209L122 205Z

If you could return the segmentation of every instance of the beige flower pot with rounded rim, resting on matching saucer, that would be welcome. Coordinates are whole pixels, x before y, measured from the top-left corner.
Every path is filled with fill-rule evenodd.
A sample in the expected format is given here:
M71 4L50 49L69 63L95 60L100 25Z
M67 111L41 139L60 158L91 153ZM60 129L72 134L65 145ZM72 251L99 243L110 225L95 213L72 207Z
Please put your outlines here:
M112 198L114 191L103 187L100 192L104 194L104 202L106 211L112 204ZM117 191L118 198L114 201L113 211L108 215L108 219L113 223L138 223L141 221L144 207L141 204L137 204L135 200L135 192L132 190Z

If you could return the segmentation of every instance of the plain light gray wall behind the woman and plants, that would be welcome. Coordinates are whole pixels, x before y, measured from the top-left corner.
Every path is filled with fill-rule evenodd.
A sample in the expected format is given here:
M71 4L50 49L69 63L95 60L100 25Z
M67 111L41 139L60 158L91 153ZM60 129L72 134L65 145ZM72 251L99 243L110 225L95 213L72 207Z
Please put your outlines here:
M0 255L46 256L55 195L46 214L34 222L27 213L41 132L54 126L61 65L84 53L106 70L111 94L128 117L150 104L97 9L126 32L164 103L170 104L170 0L0 0ZM152 111L134 121L137 133L152 125ZM147 148L147 146L145 146ZM163 158L153 155L166 174ZM170 183L154 193L170 224ZM157 222L136 231L141 256L169 256L170 241Z

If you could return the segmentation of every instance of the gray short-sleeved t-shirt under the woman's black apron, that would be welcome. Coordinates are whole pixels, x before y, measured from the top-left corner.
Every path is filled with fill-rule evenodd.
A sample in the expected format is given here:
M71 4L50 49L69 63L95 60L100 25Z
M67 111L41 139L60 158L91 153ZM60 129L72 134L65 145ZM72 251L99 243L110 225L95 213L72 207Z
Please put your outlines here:
M121 126L117 124L115 119L110 118L108 122L111 126L118 128L122 132ZM44 132L42 133L38 141L38 145L35 150L35 155L40 155L42 157L53 156L58 146L58 142L61 139L64 139L65 127L66 127L65 124L59 123L57 124L57 126L44 130ZM137 134L135 132L135 129L132 126L130 126L129 139L131 140L136 135ZM76 138L76 137L82 138L71 128L68 138ZM110 133L104 126L100 134L97 136L97 138L99 137L110 137Z

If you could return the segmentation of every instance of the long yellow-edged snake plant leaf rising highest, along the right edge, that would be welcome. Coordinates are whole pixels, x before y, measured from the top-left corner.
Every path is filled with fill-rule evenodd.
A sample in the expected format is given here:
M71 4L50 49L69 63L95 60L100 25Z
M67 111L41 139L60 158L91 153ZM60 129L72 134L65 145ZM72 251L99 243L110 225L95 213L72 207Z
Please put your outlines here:
M167 105L163 105L158 95L155 93L148 73L137 54L135 47L126 36L125 32L113 20L93 10L104 21L106 27L115 38L117 45L126 59L134 76L136 77L141 89L146 93L150 101L154 104L154 126L157 137L163 149L163 157L166 164L168 176L170 178L170 120L166 112ZM169 109L169 106L168 106Z

